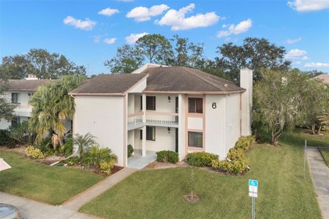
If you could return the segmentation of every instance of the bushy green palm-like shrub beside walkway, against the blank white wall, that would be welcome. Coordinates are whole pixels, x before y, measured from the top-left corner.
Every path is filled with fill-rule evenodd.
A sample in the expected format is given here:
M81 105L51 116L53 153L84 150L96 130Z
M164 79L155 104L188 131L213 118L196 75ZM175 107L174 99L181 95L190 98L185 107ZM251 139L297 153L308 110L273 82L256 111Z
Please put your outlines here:
M117 155L112 154L110 148L101 148L98 145L94 145L82 154L82 159L86 165L99 168L101 161L116 161Z

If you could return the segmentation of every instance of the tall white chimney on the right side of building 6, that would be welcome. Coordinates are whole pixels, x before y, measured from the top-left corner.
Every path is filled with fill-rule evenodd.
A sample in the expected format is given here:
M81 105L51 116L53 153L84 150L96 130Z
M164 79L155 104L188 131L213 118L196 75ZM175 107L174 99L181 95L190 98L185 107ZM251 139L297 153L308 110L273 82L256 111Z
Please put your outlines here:
M240 70L241 94L241 135L252 135L252 70Z

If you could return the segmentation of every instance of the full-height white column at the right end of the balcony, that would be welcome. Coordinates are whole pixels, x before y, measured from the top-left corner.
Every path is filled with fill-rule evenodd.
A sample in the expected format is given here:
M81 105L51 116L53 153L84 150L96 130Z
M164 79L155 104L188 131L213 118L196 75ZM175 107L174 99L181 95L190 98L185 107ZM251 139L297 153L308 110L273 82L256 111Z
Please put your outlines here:
M178 95L178 154L180 156L180 161L182 161L185 154L185 104L184 104L184 94Z

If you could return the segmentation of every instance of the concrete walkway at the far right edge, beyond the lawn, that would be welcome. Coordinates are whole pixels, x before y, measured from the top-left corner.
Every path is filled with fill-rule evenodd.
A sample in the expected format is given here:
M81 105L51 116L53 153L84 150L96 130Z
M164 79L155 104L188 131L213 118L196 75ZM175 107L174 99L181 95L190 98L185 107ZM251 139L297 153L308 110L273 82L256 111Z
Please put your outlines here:
M329 169L317 148L308 147L306 154L322 216L329 219Z

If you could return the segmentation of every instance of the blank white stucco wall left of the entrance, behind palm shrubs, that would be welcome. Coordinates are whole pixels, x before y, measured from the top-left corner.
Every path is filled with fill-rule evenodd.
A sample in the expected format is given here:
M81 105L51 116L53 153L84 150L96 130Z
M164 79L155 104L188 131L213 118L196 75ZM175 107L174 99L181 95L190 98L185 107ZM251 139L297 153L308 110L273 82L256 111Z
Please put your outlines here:
M123 97L76 96L74 134L90 132L100 146L117 154L123 165ZM126 124L125 124L126 125Z

